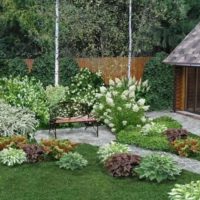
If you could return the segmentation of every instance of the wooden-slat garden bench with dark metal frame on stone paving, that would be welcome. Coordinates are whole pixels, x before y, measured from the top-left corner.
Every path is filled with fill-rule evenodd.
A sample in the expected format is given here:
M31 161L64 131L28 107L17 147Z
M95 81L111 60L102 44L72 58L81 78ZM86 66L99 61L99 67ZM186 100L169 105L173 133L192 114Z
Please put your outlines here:
M71 103L62 102L60 105L71 106ZM84 105L81 105L81 106L84 106ZM83 110L85 110L86 112L83 112ZM89 109L82 109L81 112L83 113L83 115L81 116L79 115L77 117L53 117L53 118L51 117L51 120L49 122L49 133L53 130L54 136L55 138L57 138L56 129L58 125L67 124L67 123L83 123L86 125L86 129L89 125L92 125L98 137L99 136L99 122L94 117L88 114L88 110ZM55 116L56 112L53 111L53 114ZM73 114L74 113L72 112L70 115L73 115Z

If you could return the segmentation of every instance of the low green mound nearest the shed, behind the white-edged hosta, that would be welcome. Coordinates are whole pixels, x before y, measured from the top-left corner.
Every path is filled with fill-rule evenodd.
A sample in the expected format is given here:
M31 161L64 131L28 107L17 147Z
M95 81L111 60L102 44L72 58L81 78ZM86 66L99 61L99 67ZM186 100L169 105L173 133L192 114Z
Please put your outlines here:
M163 124L167 128L182 128L182 125L178 121L168 116L155 118L153 122Z

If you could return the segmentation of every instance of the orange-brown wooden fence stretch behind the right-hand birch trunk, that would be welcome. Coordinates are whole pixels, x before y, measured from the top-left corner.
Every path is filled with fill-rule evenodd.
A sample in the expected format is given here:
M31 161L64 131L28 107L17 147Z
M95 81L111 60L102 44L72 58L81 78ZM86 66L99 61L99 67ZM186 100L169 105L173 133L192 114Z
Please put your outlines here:
M144 66L150 57L136 57L132 59L131 75L137 80L142 78ZM77 58L80 68L89 68L93 72L101 71L103 79L108 84L109 79L127 76L127 57L103 57L103 58Z

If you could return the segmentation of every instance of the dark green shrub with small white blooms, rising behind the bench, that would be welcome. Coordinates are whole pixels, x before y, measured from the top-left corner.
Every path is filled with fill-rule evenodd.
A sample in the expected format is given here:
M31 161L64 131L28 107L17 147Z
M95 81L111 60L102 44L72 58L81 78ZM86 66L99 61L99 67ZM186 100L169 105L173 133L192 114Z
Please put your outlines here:
M66 88L67 100L92 106L102 85L101 73L93 73L83 68L72 77L71 84Z

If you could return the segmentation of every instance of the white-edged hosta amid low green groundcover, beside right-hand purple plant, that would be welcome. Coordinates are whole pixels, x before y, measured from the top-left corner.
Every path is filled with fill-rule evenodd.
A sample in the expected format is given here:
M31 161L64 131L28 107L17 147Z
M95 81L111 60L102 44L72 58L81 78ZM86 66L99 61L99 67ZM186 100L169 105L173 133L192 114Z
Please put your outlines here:
M154 134L161 134L166 131L168 128L164 124L159 124L155 122L150 122L145 124L142 129L141 133L143 135L154 135Z

